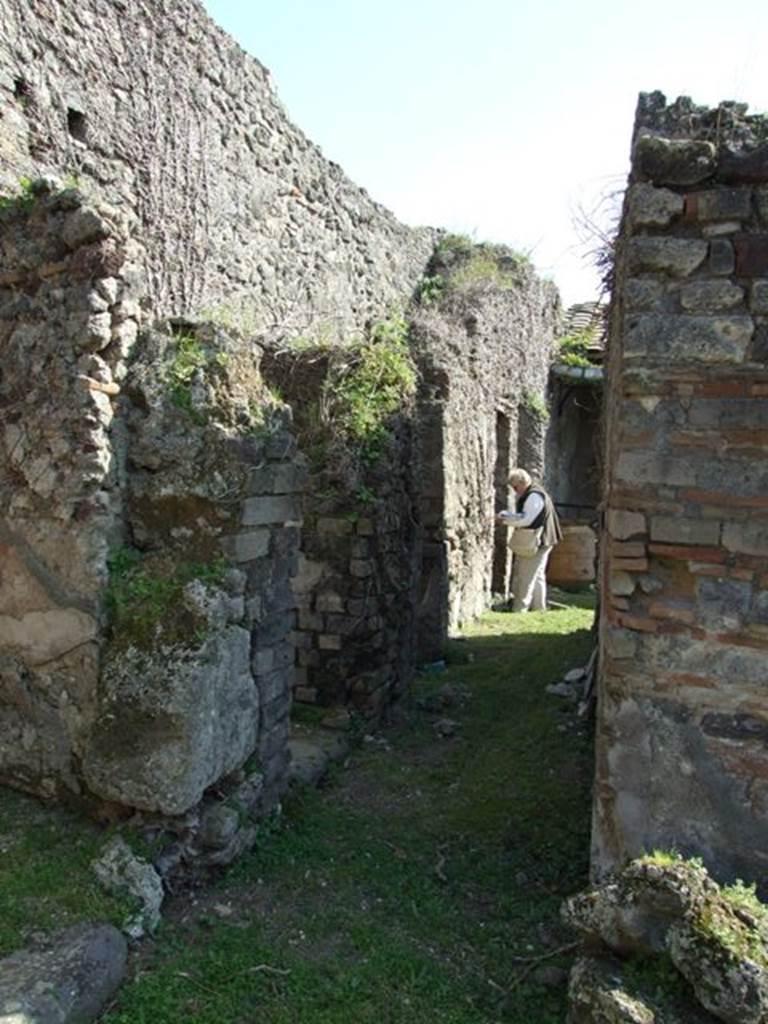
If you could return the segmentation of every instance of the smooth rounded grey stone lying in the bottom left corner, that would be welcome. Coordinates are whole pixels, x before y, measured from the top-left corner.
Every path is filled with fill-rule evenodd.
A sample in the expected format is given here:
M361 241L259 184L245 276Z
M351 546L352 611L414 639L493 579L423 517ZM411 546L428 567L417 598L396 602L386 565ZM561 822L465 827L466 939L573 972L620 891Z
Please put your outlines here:
M4 1024L87 1024L125 978L127 945L112 925L76 925L0 961Z

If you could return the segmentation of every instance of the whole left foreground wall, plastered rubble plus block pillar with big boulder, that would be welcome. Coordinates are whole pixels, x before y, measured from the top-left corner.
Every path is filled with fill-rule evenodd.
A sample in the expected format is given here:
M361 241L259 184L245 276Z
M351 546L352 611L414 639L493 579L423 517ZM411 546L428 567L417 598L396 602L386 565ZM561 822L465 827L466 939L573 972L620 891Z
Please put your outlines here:
M269 806L303 469L260 350L139 331L114 209L0 219L0 780L178 816L250 761Z

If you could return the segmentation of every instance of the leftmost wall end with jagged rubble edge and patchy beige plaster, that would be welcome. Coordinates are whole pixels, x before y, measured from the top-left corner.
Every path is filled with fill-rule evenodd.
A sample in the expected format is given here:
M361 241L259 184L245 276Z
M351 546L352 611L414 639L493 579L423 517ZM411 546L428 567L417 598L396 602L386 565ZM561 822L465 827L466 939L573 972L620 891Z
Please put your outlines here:
M0 217L0 779L51 795L95 714L140 252L72 194Z

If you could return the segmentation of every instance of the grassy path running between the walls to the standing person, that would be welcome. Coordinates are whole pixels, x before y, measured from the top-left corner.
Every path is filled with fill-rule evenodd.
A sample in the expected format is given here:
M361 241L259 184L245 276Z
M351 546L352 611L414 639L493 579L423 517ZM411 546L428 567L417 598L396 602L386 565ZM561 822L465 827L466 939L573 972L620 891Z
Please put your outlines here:
M276 833L176 905L105 1022L560 1024L564 987L513 957L569 942L559 904L587 882L588 730L544 687L584 664L591 620L485 616L460 645L474 659L421 678L386 745L295 793ZM439 739L416 699L445 682L467 698Z

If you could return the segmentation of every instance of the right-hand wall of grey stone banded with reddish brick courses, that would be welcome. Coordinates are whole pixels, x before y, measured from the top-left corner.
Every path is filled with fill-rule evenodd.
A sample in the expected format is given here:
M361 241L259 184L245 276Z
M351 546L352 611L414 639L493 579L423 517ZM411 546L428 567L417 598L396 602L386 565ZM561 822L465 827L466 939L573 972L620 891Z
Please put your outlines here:
M641 97L607 369L594 865L768 849L768 120Z

